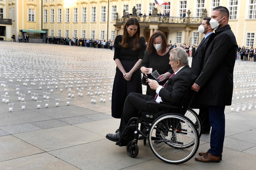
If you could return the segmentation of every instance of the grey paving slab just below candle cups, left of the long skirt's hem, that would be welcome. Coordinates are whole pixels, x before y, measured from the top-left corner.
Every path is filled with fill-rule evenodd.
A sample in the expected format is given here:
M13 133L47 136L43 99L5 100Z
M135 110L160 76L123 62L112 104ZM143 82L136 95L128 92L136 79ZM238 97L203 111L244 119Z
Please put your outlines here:
M82 108L82 107L77 107L74 105L52 107L51 109L41 108L41 109L33 109L33 110L55 119L98 113L97 111L93 111L93 110Z

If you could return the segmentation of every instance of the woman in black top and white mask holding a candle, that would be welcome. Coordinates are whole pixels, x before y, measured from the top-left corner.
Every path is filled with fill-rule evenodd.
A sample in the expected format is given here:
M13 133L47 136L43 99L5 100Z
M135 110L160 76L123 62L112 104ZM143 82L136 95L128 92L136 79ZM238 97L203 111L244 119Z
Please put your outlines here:
M161 31L156 31L149 40L148 50L146 51L141 63L141 72L150 79L154 80L154 77L151 74L149 74L149 68L152 68L152 71L157 70L157 72L160 74L158 78L161 80L161 82L159 82L159 85L162 86L173 73L173 70L169 65L169 51L171 49L171 46L167 44L167 40L164 33ZM152 90L149 87L148 83L146 84L146 94L155 96L155 90Z

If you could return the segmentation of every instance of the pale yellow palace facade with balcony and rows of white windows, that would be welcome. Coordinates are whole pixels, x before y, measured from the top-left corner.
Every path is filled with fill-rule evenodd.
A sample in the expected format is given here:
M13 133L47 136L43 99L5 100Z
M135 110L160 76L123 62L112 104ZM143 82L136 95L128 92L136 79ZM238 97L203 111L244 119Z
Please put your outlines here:
M42 39L44 34L114 39L122 34L129 17L137 17L146 41L160 30L168 43L198 44L203 37L197 31L202 18L221 5L230 10L229 24L237 43L255 46L256 0L165 2L168 4L157 5L154 0L0 0L0 40L10 41L13 34L27 34L30 40ZM169 16L159 16L160 12Z

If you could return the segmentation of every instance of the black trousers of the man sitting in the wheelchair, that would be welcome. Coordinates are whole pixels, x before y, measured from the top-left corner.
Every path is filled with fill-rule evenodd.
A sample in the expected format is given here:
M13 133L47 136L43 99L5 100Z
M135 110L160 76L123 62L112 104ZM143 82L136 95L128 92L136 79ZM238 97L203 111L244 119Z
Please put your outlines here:
M138 117L138 112L158 113L159 107L147 104L147 101L154 101L155 96L130 93L124 102L119 131L122 133L126 124L132 117Z

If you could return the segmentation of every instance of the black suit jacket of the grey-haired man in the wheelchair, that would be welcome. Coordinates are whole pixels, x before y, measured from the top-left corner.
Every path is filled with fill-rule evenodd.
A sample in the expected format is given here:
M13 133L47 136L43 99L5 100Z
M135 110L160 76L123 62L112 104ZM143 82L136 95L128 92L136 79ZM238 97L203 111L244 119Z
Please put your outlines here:
M186 65L177 74L172 76L166 86L159 91L164 104L179 106L183 96L196 80L196 75L191 68Z

